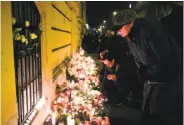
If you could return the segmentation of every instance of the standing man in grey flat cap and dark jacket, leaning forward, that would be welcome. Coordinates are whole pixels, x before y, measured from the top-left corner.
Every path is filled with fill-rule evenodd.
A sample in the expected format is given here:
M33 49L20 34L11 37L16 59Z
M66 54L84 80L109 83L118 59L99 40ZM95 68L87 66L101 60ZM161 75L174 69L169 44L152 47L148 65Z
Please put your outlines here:
M126 38L144 83L140 125L179 125L174 103L178 97L181 57L175 40L162 23L136 19L131 10L118 12L113 25Z

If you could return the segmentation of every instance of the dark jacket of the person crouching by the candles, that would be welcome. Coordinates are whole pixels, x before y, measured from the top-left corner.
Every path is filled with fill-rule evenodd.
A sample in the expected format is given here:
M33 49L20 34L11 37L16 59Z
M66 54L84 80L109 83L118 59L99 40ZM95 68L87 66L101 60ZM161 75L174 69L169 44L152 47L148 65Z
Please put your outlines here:
M127 68L126 68L127 69ZM134 71L135 72L135 71ZM108 80L109 74L115 74L116 81ZM102 81L101 92L108 98L109 103L127 103L127 97L137 83L136 76L125 70L122 64L115 64L112 68L105 68L104 79Z

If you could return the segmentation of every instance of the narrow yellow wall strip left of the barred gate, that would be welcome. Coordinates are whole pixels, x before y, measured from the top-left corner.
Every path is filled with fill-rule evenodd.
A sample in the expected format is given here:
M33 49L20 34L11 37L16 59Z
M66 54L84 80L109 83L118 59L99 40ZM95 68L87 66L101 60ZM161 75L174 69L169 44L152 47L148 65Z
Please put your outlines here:
M10 2L1 2L1 125L6 125L17 112L10 4Z

